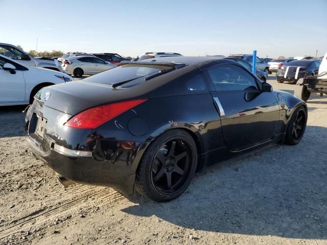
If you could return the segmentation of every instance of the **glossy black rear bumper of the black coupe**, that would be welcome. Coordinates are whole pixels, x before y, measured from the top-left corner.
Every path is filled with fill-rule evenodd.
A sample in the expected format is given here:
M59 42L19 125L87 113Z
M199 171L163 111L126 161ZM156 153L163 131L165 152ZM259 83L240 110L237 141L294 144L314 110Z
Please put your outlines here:
M141 158L141 142L104 138L91 130L58 125L65 114L36 103L27 113L27 141L32 153L59 175L80 184L112 187L124 195L133 193L135 172ZM36 133L37 116L48 117L44 135ZM53 121L50 118L56 118Z

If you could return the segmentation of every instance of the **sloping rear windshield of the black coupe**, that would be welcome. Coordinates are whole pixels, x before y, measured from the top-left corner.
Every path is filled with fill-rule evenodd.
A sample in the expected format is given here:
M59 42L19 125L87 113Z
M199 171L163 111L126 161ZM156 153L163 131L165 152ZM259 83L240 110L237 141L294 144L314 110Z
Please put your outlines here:
M116 84L133 80L121 87L131 87L144 82L144 78L155 74L159 70L171 69L166 65L144 65L144 64L126 64L100 72L96 75L83 79L83 81L101 84Z

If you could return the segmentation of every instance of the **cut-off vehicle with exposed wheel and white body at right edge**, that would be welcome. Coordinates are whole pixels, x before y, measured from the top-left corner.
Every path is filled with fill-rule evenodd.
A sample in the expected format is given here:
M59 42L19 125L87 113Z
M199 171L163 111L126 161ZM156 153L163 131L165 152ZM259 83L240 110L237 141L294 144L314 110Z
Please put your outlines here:
M308 101L311 93L327 95L327 53L321 59L317 76L299 79L294 89L294 95L303 101Z

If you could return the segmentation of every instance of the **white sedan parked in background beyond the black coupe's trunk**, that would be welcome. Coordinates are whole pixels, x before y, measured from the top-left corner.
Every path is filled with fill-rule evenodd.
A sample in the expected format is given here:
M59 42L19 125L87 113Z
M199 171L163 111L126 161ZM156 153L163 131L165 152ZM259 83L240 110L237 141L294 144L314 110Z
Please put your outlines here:
M83 75L94 75L113 67L116 67L116 65L93 55L72 56L72 58L65 59L62 63L63 70L76 78L81 78Z

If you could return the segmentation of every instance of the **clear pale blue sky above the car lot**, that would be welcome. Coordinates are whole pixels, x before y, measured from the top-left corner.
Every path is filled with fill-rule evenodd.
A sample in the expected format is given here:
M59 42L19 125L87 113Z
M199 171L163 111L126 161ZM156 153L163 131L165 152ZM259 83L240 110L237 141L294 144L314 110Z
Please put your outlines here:
M25 51L323 56L327 0L0 0L0 42Z

